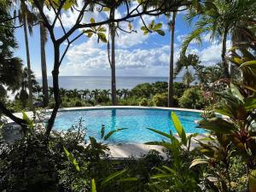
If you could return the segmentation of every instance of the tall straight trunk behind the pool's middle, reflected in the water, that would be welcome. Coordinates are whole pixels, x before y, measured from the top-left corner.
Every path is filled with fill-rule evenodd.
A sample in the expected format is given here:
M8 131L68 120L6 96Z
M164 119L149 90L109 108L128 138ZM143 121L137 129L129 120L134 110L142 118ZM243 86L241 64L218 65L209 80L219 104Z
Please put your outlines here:
M114 9L110 14L110 17L114 19ZM110 37L111 37L111 97L112 105L117 105L116 97L116 78L115 78L115 26L114 23L110 24Z

